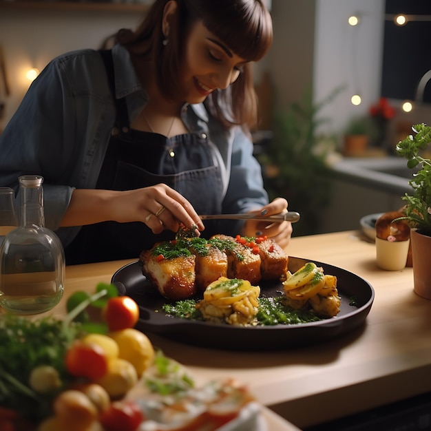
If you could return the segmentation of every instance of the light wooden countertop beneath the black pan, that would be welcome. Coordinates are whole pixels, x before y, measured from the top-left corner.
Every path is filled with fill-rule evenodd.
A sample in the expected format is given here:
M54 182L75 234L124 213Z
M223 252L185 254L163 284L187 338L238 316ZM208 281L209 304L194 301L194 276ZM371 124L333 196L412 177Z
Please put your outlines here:
M151 341L199 378L248 383L258 401L299 428L431 391L431 301L414 294L411 268L378 269L375 244L356 231L293 238L288 254L370 282L375 301L366 324L326 344L278 352L212 350L148 334ZM128 262L67 267L65 297L51 314L64 315L71 292L94 291Z

